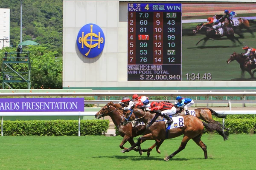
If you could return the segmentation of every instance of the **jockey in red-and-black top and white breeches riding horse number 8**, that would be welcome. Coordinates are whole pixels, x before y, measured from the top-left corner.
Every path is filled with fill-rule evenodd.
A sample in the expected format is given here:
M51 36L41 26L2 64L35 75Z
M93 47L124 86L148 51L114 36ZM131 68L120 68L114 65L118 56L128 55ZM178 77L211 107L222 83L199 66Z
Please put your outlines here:
M172 118L169 115L174 115L176 113L176 108L172 103L168 102L152 102L151 108L146 108L146 111L154 111L155 113L161 113L161 115L167 119L167 123L172 123Z

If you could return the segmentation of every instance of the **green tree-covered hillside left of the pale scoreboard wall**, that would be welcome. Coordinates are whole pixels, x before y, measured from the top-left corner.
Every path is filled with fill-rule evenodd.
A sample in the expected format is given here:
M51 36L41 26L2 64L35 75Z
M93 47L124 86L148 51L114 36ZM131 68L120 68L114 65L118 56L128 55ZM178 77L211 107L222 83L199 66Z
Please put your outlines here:
M0 7L10 8L12 45L0 50L2 66L3 53L16 52L20 43L20 0L1 0ZM62 88L62 29L62 0L22 0L23 41L33 40L40 44L23 46L23 51L30 52L31 87L34 89ZM17 89L27 86L26 83L12 85Z

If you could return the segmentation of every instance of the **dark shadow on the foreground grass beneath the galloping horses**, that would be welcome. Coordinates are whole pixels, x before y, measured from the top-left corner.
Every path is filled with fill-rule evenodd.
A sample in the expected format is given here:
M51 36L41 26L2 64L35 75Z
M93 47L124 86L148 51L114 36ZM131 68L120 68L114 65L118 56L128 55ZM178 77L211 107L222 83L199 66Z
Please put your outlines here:
M159 157L155 157L155 156L95 156L95 157L91 157L91 158L115 158L115 159L125 159L125 160L131 160L131 161L141 161L141 160L154 160L154 161L163 161L163 158L159 158ZM211 160L217 160L216 158L208 158ZM204 160L204 158L191 158L191 159L186 159L186 158L172 158L170 159L170 161L188 161L188 160Z

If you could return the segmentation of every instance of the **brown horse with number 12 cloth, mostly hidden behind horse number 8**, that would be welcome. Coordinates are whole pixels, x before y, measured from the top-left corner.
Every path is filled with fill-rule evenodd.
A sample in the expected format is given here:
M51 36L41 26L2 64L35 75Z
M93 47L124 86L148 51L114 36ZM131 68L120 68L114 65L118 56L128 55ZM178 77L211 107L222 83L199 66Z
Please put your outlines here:
M177 111L176 114L177 114L177 116L185 115L185 111L182 108L179 111ZM175 116L176 116L176 114L175 114ZM192 110L191 115L197 117L198 119L204 120L204 122L216 123L216 124L220 125L222 128L224 128L225 130L229 130L229 128L223 126L220 122L217 122L212 119L212 115L215 115L218 118L225 118L225 117L227 117L227 115L218 114L210 108L197 108L195 110Z

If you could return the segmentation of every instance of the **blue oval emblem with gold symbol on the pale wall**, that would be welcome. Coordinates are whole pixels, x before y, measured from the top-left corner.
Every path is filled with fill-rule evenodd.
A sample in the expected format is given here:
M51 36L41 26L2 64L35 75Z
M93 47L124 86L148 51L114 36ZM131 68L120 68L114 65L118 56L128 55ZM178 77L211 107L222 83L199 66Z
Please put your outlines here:
M80 29L76 44L85 57L97 57L103 51L105 36L102 29L96 24L86 24Z

